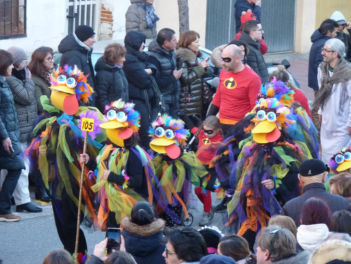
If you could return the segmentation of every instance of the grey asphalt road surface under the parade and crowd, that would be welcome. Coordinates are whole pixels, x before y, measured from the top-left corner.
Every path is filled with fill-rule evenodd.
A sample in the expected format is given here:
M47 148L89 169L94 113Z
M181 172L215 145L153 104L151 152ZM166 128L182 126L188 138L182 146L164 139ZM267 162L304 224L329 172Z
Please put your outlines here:
M33 197L32 197L33 196ZM31 191L31 197L34 201L34 193ZM219 201L212 193L212 204L217 205ZM3 264L40 264L46 254L53 250L62 248L61 241L58 237L54 216L51 205L41 206L40 203L34 202L36 206L42 207L41 213L15 213L22 216L18 222L0 222L0 259ZM203 207L200 201L194 202L196 209L190 209L194 216L192 227L199 228ZM15 206L12 211L15 212ZM216 213L212 220L211 226L216 225L225 233L226 228L223 226L222 214ZM95 244L105 238L105 232L84 231L88 254L92 254Z

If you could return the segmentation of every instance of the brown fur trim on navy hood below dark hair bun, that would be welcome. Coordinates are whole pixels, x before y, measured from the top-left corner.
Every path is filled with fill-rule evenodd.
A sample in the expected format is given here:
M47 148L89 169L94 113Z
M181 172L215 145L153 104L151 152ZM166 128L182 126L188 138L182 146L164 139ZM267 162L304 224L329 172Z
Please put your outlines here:
M124 217L121 220L121 226L124 228L124 230L142 237L148 237L161 232L163 228L165 228L165 224L165 220L160 218L156 219L151 224L143 226L134 224L130 217Z

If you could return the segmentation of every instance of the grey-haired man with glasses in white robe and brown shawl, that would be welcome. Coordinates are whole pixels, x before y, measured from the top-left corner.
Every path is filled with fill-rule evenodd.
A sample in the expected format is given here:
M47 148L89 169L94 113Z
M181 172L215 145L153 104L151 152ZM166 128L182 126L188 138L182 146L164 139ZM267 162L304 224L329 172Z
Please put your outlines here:
M345 45L332 38L322 48L318 67L319 91L314 105L319 107L322 160L329 163L334 153L351 145L351 64L345 61Z

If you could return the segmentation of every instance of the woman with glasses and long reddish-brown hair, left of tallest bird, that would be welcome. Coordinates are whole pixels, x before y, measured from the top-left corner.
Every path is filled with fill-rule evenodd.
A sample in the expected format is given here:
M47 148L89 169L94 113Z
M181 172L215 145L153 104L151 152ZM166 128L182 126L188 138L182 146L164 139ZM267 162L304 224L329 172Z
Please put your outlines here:
M34 97L38 106L38 114L41 114L44 111L40 103L40 96L46 95L47 98L50 99L50 75L57 67L57 65L54 64L54 59L55 56L53 56L52 48L42 46L34 50L32 60L28 64L28 69L32 73L32 80L35 84Z

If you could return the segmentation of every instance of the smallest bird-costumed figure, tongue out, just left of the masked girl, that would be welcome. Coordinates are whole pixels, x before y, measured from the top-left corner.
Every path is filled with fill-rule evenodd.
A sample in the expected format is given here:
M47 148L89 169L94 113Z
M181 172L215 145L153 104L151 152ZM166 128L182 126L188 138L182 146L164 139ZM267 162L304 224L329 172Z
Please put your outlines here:
M185 217L188 216L191 184L200 187L200 178L208 172L193 151L182 151L189 134L182 120L163 115L152 122L149 133L152 137L150 147L159 153L152 159L155 175L159 179L157 189L165 194L160 195L157 209L158 212L164 211L161 217L166 220L166 226L171 227L180 223L182 208Z

